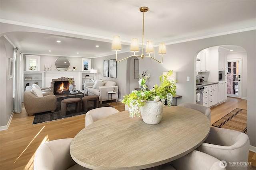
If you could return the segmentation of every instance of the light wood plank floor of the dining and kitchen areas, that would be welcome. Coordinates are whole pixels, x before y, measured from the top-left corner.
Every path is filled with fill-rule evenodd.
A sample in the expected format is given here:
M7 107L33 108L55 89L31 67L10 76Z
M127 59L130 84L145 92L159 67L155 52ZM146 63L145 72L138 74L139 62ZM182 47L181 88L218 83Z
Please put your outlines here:
M112 102L119 111L124 104ZM247 100L228 98L219 106L211 107L212 123L235 108L247 109ZM24 107L22 113L14 113L8 130L0 131L0 170L33 169L34 153L45 141L72 138L85 127L85 116L80 115L32 125L34 116L28 116ZM256 153L249 153L248 162L256 166Z

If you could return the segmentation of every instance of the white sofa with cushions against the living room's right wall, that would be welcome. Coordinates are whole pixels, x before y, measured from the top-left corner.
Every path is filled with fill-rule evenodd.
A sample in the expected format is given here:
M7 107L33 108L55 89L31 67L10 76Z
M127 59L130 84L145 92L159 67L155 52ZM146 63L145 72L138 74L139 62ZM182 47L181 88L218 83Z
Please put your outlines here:
M116 82L112 81L106 81L106 80L96 80L94 82L85 82L84 83L84 93L92 96L96 95L99 96L100 104L102 104L102 101L111 100L111 95L109 95L108 98L108 92L113 91L113 88L115 88L116 94L112 94L112 100L118 100L118 86L116 86Z

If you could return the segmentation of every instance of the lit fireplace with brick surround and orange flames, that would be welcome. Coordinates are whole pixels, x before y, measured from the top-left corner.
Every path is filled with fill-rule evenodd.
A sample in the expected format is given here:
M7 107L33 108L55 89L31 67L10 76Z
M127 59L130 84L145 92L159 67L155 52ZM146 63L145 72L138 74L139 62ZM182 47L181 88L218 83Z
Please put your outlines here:
M55 95L62 94L62 91L68 90L70 85L67 77L61 77L52 79L50 89ZM75 87L75 81L72 82L72 85Z

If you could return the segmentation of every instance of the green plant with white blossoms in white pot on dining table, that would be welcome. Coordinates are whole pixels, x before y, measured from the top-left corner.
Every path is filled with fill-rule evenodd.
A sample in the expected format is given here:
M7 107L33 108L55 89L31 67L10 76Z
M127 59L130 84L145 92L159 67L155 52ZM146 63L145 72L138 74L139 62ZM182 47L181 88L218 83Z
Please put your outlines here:
M176 94L176 84L173 79L168 79L170 75L172 75L173 71L170 70L167 72L166 75L159 76L160 79L160 86L158 84L154 85L154 88L147 90L148 87L146 86L146 80L148 80L149 77L140 78L139 84L142 87L141 90L133 90L131 94L124 96L124 100L122 101L124 104L127 104L130 112L130 117L140 117L140 112L142 114L142 119L145 123L148 124L157 124L162 119L162 112L163 111L163 105L164 102L167 102L167 106L171 106L172 104L172 96L175 96ZM155 108L156 110L159 110L159 113L157 113L154 108L146 108L146 107L154 107L153 105L157 105ZM146 105L146 107L145 107ZM157 117L160 120L144 120L148 119L142 112L152 112L151 117Z

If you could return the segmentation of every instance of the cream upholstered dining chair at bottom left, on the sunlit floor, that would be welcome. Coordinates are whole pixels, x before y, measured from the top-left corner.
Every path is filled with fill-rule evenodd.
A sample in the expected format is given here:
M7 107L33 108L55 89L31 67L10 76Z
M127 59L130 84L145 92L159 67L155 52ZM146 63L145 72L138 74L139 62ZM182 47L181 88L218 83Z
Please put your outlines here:
M90 170L71 158L72 139L58 139L40 145L34 157L34 170Z

